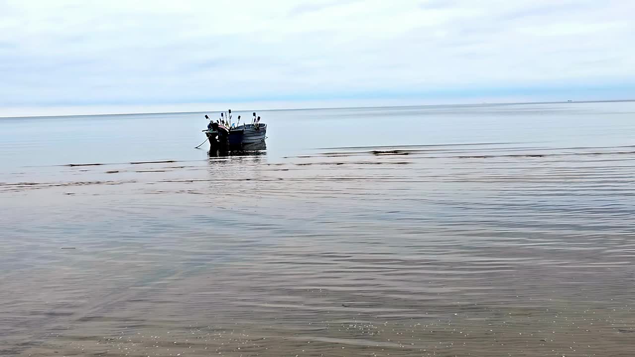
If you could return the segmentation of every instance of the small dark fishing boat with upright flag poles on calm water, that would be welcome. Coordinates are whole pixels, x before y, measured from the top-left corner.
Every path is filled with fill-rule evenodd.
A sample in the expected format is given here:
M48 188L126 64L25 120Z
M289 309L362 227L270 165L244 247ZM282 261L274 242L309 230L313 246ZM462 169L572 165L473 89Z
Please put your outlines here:
M244 145L262 143L267 138L267 124L260 123L260 117L256 116L256 112L253 112L250 124L237 125L240 123L240 116L235 124L232 123L231 109L229 114L220 113L220 119L217 121L211 120L207 115L205 118L210 120L207 130L203 131L207 135L211 149L241 148Z

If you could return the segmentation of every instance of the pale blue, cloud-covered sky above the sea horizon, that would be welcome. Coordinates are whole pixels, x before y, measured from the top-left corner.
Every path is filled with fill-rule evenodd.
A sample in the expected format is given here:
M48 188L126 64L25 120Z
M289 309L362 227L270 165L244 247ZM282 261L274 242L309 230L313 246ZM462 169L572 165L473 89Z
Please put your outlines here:
M630 0L0 0L0 116L635 99Z

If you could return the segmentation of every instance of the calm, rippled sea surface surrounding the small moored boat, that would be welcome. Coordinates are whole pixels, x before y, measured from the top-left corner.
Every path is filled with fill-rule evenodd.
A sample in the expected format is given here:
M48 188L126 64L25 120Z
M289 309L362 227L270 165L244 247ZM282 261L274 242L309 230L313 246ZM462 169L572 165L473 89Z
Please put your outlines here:
M0 118L1 356L635 356L635 102L204 114Z

